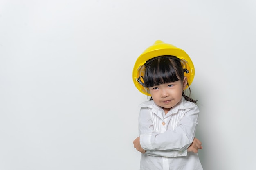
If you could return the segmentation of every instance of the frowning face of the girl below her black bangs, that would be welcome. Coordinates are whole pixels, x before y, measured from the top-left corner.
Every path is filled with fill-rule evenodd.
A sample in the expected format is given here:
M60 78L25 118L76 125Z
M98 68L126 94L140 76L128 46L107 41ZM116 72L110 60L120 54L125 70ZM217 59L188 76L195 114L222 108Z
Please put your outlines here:
M165 83L149 87L149 92L155 104L164 109L165 114L182 99L182 92L187 85L187 78L182 81Z

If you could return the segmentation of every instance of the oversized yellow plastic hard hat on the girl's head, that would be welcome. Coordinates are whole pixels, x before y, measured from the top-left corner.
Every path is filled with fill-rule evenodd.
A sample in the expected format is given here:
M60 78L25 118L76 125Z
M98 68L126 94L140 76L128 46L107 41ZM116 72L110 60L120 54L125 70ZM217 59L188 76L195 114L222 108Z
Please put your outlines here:
M135 65L133 67L133 83L141 93L150 96L150 94L148 93L148 89L144 87L144 82L142 82L143 79L141 78L144 77L144 64L149 59L164 55L176 56L177 58L181 59L183 68L186 69L186 72L184 72L184 76L188 78L188 84L191 85L195 76L195 68L189 55L186 54L186 52L180 48L177 48L171 44L164 43L163 41L157 40L152 46L148 47L137 58Z

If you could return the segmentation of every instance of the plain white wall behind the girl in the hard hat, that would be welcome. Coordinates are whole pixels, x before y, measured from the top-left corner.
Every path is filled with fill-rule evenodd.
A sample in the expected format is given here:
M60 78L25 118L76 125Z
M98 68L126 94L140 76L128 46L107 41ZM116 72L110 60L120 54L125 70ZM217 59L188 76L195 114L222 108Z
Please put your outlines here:
M185 50L205 170L254 170L255 0L0 0L0 170L138 170L137 57Z

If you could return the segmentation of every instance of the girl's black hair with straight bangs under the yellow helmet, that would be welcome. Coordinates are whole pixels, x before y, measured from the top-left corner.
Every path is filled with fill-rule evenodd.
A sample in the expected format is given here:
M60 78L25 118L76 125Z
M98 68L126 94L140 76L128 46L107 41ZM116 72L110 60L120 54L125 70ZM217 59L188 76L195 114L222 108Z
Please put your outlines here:
M146 61L145 73L144 73L144 84L145 87L153 87L164 83L170 83L175 81L182 81L184 79L184 69L180 59L175 56L159 56ZM191 90L189 84L189 96ZM189 96L182 92L182 96L190 102L196 103L197 100L193 100ZM152 97L151 99L152 100Z

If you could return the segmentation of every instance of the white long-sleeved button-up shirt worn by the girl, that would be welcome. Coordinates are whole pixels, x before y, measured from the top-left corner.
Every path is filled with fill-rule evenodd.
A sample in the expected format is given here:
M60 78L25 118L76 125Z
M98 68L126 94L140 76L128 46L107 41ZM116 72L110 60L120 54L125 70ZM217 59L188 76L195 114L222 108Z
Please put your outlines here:
M140 170L202 170L197 153L187 152L198 124L197 105L182 100L167 114L153 101L141 103Z

